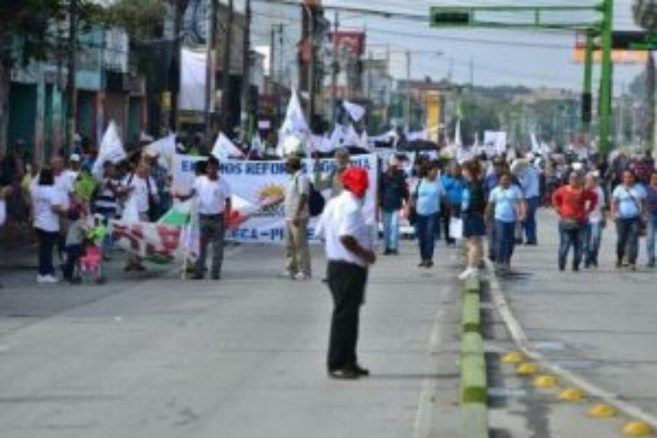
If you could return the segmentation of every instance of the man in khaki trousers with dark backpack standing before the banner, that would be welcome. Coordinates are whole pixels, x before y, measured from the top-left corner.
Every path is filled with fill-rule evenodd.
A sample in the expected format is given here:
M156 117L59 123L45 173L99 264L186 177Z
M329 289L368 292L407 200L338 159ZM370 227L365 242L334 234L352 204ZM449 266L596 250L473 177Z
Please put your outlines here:
M288 174L290 179L285 192L286 277L308 280L312 276L308 250L311 183L297 156L288 158Z

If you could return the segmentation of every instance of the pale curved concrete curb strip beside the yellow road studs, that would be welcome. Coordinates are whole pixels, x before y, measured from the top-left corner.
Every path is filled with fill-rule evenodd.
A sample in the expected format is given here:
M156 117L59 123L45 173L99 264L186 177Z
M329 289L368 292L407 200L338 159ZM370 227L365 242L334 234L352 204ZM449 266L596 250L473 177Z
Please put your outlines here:
M642 410L642 408L639 408L636 405L632 405L631 403L624 401L620 394L614 394L613 392L604 390L598 385L595 385L586 379L577 376L577 374L569 371L568 369L564 369L555 363L550 363L550 361L548 361L548 359L546 359L543 354L533 350L530 340L527 338L527 335L520 321L511 310L508 300L506 299L506 296L504 295L501 286L499 285L497 275L494 271L494 266L492 266L492 263L490 263L488 260L486 260L486 268L490 272L490 292L495 307L497 308L497 311L499 311L502 320L506 324L506 327L508 328L511 337L513 338L519 351L524 354L526 358L537 363L537 365L539 365L539 367L542 369L555 374L555 376L558 376L560 380L580 388L580 390L584 391L587 396L594 399L599 399L600 401L607 403L616 408L618 411L624 413L627 415L627 417L638 419L649 424L652 428L657 429L657 417L655 417L653 414Z

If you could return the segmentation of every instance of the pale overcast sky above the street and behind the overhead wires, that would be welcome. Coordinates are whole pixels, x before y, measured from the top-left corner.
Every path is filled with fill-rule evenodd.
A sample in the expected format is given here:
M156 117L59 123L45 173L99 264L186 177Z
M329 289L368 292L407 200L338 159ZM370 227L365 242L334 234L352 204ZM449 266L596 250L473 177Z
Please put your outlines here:
M393 12L427 15L427 21L400 18L385 19L353 12L341 13L341 27L367 30L368 47L375 55L382 55L390 47L392 70L396 77L405 77L405 51L411 51L411 75L433 80L446 77L450 71L457 82L470 80L470 62L474 64L474 82L479 85L527 85L582 89L583 66L573 62L575 35L566 32L511 31L511 30L436 30L429 28L430 6L568 4L591 5L590 0L324 0L326 6L376 8ZM598 0L595 0L598 3ZM635 29L631 17L632 0L616 0L615 27L617 30ZM259 8L255 3L255 8ZM333 12L327 13L333 19ZM292 14L295 16L295 13ZM298 17L298 15L296 15ZM596 15L568 14L550 18L595 19ZM512 20L517 17L490 17ZM438 52L442 55L438 55ZM616 91L627 85L642 67L616 66ZM599 73L599 66L595 69ZM598 77L598 74L595 75Z

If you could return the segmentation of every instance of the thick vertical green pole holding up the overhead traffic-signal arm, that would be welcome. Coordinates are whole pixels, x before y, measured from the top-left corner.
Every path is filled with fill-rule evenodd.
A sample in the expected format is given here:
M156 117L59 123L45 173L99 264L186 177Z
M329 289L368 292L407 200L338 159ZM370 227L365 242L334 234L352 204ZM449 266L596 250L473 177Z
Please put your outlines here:
M600 154L609 154L611 134L611 39L613 34L613 0L604 0L602 17L602 74L600 77Z

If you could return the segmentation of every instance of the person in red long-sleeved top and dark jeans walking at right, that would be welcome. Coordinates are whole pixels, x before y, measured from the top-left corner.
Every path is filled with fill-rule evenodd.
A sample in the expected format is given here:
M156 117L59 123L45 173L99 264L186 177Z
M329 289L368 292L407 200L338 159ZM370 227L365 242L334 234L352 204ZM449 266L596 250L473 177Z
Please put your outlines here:
M572 172L568 185L559 188L552 196L552 205L559 213L559 271L566 269L568 252L573 246L573 271L580 270L582 237L589 214L598 205L598 195L584 188L582 176Z

